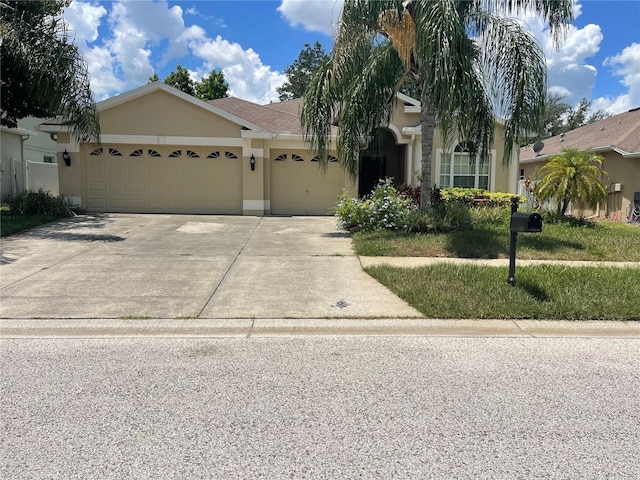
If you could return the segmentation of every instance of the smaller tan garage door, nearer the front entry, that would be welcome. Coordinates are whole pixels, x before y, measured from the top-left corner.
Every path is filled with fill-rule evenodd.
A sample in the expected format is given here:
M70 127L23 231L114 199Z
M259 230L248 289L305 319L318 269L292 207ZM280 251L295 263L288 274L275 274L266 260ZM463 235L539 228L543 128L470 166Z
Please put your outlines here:
M335 157L327 170L317 158L281 153L271 159L271 213L328 215L345 186L345 173Z

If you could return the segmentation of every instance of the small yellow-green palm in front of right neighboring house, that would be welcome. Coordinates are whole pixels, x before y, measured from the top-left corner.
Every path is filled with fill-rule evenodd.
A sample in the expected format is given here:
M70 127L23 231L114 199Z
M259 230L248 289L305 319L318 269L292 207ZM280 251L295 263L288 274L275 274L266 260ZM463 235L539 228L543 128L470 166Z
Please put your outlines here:
M556 202L557 213L564 215L571 202L582 202L592 208L607 199L602 170L603 158L593 152L564 148L562 154L551 158L540 174L542 180L535 186L535 194L542 202Z

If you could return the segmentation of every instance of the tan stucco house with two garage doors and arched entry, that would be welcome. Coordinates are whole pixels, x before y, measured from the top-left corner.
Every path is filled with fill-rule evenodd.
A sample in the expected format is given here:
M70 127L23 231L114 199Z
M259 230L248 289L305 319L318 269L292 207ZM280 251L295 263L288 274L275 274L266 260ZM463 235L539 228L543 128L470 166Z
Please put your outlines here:
M325 215L343 190L368 193L386 176L417 183L416 100L398 95L381 141L362 153L356 182L335 161L335 150L327 169L319 168L303 139L300 106L300 99L202 102L155 82L97 104L100 147L78 144L54 121L39 128L57 135L60 192L88 211ZM515 192L517 162L502 164L501 128L482 168L463 151L445 153L434 145L434 183ZM62 161L65 150L70 166Z

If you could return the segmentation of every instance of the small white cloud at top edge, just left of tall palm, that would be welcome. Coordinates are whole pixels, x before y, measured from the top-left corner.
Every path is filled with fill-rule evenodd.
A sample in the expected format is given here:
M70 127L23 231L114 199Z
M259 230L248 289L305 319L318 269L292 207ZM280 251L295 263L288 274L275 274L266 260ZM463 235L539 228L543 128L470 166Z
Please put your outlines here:
M291 24L331 36L344 0L282 0L278 12Z

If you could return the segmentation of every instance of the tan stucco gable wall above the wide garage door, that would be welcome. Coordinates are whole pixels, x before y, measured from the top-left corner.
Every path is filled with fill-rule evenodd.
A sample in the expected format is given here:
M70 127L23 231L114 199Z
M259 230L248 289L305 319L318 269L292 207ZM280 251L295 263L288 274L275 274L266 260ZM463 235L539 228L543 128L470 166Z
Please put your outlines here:
M204 103L203 103L204 105ZM163 90L100 112L103 134L240 137L241 127Z

